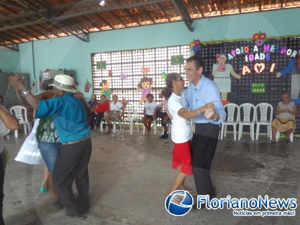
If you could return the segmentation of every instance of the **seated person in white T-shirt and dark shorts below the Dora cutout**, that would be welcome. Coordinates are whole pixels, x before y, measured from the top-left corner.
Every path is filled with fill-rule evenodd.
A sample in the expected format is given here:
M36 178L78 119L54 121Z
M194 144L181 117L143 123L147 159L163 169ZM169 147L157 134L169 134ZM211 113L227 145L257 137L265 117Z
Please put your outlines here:
M146 95L147 101L144 103L144 111L143 111L143 117L142 117L142 123L144 124L146 128L146 133L150 133L151 131L151 121L156 119L154 117L154 110L156 106L158 105L155 101L153 101L153 94L148 93Z

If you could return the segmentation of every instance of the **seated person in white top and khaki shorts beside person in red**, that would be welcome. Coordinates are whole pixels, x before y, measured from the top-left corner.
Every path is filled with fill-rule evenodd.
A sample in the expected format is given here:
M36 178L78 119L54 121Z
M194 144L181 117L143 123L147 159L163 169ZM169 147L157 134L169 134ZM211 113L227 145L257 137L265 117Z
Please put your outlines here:
M108 129L105 133L111 132L111 123L110 120L120 119L124 115L124 107L121 102L117 100L117 96L112 96L112 101L109 104L109 109L107 115L105 115L105 120L108 126Z

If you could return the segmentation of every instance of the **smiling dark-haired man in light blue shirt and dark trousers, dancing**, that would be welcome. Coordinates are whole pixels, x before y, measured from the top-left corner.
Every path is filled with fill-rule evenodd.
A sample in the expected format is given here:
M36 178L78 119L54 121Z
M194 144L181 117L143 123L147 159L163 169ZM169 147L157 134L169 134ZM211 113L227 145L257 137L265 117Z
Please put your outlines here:
M184 98L191 110L212 102L213 108L192 118L195 133L191 143L192 168L198 194L216 195L210 178L210 163L216 148L220 123L225 119L220 91L215 82L202 74L204 64L197 55L186 59L185 75L189 85Z

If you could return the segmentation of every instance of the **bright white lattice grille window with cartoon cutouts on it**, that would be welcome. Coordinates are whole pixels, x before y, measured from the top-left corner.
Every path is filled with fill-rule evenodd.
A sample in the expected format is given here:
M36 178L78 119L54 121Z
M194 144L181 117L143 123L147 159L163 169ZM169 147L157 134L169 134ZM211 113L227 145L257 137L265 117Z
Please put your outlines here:
M190 55L188 45L92 53L93 92L97 99L100 99L100 83L102 80L107 80L109 88L113 94L118 96L119 101L129 100L128 104L139 101L142 92L136 88L144 76L141 70L144 66L149 68L146 76L152 78L154 82L150 92L154 95L154 101L159 103L161 99L158 94L165 86L165 80L161 76L162 72L179 72L182 76L184 74L184 64L171 65L171 56L173 55L182 55L185 63L185 59ZM105 61L106 68L97 69L97 61ZM111 76L108 75L109 70L112 71ZM127 76L126 79L121 79L121 73ZM184 79L185 85L187 85L186 77ZM141 107L140 113L142 110L143 107ZM125 107L126 113L128 113L128 106Z

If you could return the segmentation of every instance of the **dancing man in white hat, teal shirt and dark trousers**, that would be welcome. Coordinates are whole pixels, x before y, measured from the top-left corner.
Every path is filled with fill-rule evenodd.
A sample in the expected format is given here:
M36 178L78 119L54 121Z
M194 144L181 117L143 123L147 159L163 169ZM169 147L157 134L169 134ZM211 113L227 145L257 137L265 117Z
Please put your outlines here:
M19 76L10 76L9 83L21 91L29 105L36 110L36 118L53 117L62 145L57 150L53 168L53 183L60 203L68 215L79 216L89 207L87 165L91 154L91 140L87 125L87 102L82 93L74 93L74 80L68 75L56 75L52 85L56 97L37 99ZM78 99L78 98L81 98ZM75 180L78 190L74 198L71 186Z

